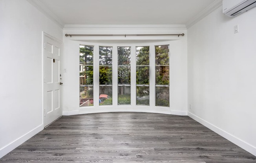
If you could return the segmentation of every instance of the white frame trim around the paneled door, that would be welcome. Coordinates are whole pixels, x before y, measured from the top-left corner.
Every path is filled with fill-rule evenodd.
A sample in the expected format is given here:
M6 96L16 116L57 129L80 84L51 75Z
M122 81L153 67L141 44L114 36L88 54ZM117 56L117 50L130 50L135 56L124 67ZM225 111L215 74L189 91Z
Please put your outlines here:
M43 124L43 127L46 128L47 126L45 126L45 122L44 122L44 119L45 119L45 114L44 114L44 110L45 110L45 105L44 105L44 102L45 102L45 85L44 85L44 67L45 67L45 63L44 63L44 47L45 47L45 37L48 37L58 43L61 44L61 61L60 61L60 73L62 74L62 69L63 69L63 43L62 41L60 41L59 39L57 39L56 37L53 37L51 36L50 34L48 33L45 33L44 31L42 31L42 124ZM63 77L63 74L62 74L62 77ZM62 88L61 88L61 92L60 92L60 109L62 110L62 114L63 114L63 105L62 105ZM59 119L59 118L58 118ZM54 121L53 121L54 122ZM51 123L50 123L51 124Z

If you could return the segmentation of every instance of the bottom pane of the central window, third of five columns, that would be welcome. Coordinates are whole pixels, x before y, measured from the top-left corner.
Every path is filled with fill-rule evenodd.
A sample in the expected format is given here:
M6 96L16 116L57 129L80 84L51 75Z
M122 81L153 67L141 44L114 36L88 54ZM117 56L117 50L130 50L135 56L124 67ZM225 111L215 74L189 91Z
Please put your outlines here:
M131 105L130 86L118 86L118 105Z

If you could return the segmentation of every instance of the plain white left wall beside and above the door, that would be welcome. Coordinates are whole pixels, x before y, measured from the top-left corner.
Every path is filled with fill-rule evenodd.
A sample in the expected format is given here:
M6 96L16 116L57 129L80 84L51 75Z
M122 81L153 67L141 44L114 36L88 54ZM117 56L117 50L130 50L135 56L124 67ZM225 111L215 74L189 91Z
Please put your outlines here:
M43 129L42 32L62 29L26 0L0 1L0 158Z

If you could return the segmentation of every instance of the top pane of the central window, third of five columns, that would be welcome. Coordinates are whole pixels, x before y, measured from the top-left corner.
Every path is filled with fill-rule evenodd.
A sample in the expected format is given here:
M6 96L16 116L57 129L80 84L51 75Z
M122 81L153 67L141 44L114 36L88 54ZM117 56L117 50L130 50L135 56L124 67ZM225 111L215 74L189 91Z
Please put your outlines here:
M118 65L130 65L131 47L117 47Z

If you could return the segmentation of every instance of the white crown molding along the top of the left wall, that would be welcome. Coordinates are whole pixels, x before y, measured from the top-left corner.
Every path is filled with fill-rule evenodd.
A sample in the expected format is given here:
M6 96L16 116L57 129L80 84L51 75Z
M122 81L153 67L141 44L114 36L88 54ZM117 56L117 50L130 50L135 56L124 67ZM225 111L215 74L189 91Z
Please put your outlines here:
M30 4L35 6L39 11L41 11L44 15L46 15L50 20L55 22L61 28L64 27L64 23L58 18L53 12L51 12L40 0L27 0Z

